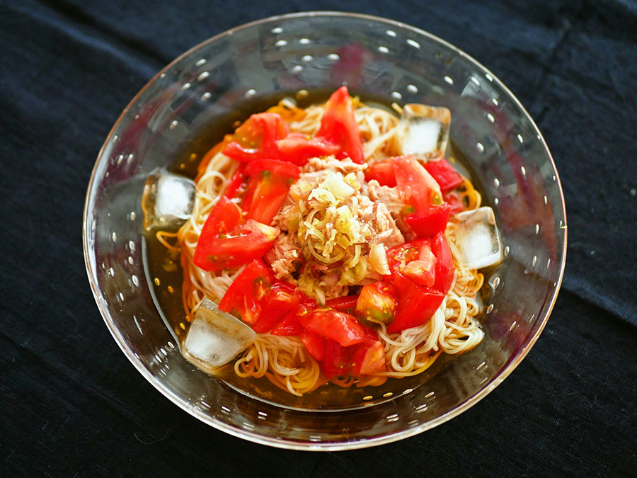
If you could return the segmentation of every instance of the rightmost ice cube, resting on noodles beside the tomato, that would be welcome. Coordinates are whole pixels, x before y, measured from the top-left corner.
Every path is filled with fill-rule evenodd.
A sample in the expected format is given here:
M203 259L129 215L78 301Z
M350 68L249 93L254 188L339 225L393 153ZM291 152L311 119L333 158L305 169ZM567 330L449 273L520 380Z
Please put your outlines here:
M490 207L452 215L449 237L456 246L460 266L481 269L502 261L502 239Z

